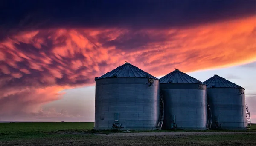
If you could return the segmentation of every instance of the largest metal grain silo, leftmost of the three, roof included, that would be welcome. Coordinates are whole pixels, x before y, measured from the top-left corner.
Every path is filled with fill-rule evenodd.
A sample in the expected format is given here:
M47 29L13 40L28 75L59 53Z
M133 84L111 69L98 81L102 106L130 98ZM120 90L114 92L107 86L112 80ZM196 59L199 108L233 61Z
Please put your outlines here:
M126 62L96 77L96 130L152 130L160 116L159 80Z

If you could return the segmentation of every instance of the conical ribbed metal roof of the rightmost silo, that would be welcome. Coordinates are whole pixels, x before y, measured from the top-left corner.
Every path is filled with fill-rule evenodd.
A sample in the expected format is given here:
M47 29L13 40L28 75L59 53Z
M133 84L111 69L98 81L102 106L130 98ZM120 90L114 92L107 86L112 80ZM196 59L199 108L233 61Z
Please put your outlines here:
M243 87L236 85L235 83L230 82L229 80L224 79L223 77L214 74L213 77L204 81L204 84L207 85L207 88L242 88Z

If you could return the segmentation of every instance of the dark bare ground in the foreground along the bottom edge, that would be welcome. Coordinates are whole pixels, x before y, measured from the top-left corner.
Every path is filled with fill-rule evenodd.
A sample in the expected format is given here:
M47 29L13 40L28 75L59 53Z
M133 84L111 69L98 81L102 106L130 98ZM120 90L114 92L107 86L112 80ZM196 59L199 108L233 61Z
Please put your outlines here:
M256 132L138 132L69 134L0 141L0 146L256 146Z

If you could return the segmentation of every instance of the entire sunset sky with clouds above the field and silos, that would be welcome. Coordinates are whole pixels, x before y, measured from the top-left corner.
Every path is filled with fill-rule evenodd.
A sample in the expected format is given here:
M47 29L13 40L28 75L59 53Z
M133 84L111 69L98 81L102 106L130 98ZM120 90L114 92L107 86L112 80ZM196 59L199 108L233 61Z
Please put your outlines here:
M155 77L218 74L256 123L254 0L3 0L0 120L94 121L95 81L124 61Z

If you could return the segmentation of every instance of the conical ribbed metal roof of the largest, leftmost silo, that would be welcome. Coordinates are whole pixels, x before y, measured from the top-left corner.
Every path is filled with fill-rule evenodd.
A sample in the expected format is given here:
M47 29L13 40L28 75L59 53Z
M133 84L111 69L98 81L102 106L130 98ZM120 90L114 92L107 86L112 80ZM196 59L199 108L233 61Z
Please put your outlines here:
M125 62L125 64L123 64L122 66L119 66L116 69L107 72L101 77L95 77L95 80L111 77L140 77L159 80L158 78L152 76L151 74L148 74L147 72L144 72L143 70L128 62Z

